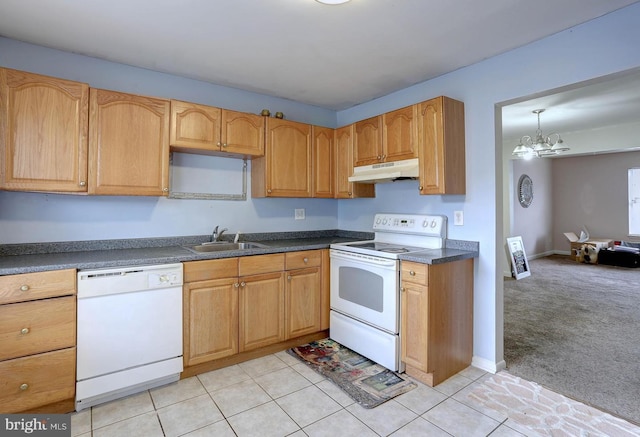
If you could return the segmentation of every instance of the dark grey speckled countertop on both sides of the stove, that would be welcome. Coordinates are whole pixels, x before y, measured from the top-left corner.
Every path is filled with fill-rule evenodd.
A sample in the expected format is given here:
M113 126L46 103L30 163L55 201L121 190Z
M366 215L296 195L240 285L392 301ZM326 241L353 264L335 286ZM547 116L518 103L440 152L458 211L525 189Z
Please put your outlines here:
M0 276L60 269L98 269L134 265L170 264L205 259L326 249L332 243L372 239L368 232L309 231L245 234L240 241L266 247L196 253L185 246L207 241L208 236L30 243L0 246ZM425 250L401 259L438 264L478 256L478 243L446 240L444 249Z

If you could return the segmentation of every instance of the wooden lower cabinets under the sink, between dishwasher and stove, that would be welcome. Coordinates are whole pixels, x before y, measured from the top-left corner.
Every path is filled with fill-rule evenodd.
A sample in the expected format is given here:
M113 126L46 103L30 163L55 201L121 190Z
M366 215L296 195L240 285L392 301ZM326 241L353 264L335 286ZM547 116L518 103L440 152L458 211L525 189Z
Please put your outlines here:
M328 250L184 263L183 377L323 338L325 268Z

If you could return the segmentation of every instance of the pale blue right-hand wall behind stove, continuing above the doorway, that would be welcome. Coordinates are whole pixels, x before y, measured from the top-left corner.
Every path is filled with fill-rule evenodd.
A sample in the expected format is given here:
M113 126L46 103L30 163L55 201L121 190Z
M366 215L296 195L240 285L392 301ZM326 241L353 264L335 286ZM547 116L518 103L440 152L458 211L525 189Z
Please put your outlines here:
M640 68L638 23L640 3L338 113L338 126L342 126L442 94L465 103L465 196L419 196L410 183L380 185L375 202L340 202L338 218L341 227L357 228L378 209L438 212L449 217L450 238L480 242L474 283L474 363L480 367L504 366L500 106L510 100ZM383 208L378 203L380 199L385 199ZM464 211L464 226L451 226L454 210Z

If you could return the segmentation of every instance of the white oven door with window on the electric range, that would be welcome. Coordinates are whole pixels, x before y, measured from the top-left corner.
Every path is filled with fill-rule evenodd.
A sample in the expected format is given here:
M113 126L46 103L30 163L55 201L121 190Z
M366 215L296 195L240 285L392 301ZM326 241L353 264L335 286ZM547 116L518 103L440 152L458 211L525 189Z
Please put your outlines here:
M398 261L331 249L331 309L397 334Z

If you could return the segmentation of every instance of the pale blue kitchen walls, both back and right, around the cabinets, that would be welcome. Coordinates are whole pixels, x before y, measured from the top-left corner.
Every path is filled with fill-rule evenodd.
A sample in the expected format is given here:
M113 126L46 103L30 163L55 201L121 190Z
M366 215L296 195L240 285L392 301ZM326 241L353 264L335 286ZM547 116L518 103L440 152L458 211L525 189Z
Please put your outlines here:
M370 230L376 212L438 213L449 237L480 242L474 282L474 364L504 365L502 350L501 102L640 67L640 3L478 64L337 114L240 90L135 69L0 39L0 65L86 81L92 86L175 97L326 126L354 121L429 98L465 102L467 194L419 196L417 182L376 187L375 199L247 202L87 198L0 192L0 242L192 235L221 224L245 232L298 229ZM544 62L538 62L544 60ZM278 109L276 109L278 108ZM293 209L307 220L294 221ZM464 226L452 226L454 210Z

